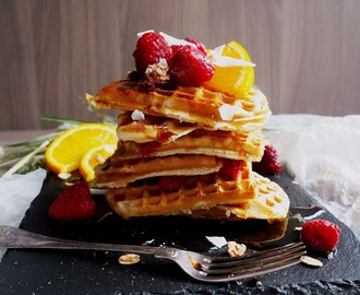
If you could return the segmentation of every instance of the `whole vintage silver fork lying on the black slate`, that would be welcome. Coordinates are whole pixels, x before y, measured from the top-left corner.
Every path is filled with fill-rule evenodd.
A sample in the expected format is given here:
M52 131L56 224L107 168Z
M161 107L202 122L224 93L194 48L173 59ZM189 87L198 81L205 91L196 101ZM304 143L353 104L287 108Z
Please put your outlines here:
M153 255L170 259L193 279L204 282L228 282L277 271L300 262L305 246L291 243L281 247L249 252L240 257L213 257L172 247L85 243L38 235L12 226L0 226L0 247L106 250Z

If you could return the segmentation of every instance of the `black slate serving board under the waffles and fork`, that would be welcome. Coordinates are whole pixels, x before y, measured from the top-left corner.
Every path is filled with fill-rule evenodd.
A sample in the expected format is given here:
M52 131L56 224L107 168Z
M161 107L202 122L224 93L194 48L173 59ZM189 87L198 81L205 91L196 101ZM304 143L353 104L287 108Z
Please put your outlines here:
M208 284L188 276L171 261L142 256L133 266L118 263L119 253L73 250L8 250L0 263L1 294L359 294L360 244L352 232L327 211L309 209L314 200L292 179L283 174L272 178L289 194L292 213L302 216L313 213L336 222L341 238L333 258L319 257L324 267L313 269L298 264L274 273L229 283ZM188 217L149 217L123 221L109 212L101 196L95 196L97 216L87 222L59 223L51 221L47 209L63 189L63 184L51 174L43 190L28 209L21 228L38 234L88 241L135 245L167 245L190 250L216 250L205 236L225 236L238 241L255 241L267 232L277 239L277 229L268 231L264 223L224 223ZM285 238L263 245L295 241L292 231L298 215L288 221ZM291 227L292 226L292 227ZM253 233L257 233L252 235ZM254 243L251 243L254 246ZM256 243L255 245L259 246ZM314 253L316 255L316 253Z

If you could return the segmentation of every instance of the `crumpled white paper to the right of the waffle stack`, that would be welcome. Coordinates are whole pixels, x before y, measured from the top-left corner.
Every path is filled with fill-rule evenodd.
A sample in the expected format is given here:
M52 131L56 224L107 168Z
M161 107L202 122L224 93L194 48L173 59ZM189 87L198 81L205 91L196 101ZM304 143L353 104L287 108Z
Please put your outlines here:
M314 199L360 237L360 116L277 115L269 143Z

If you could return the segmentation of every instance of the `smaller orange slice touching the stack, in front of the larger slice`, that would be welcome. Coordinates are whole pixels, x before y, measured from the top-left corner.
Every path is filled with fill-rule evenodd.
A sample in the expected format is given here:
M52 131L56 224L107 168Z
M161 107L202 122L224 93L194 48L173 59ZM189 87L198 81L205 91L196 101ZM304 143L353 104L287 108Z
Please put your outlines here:
M103 164L110 155L115 153L116 145L100 145L88 150L80 162L80 174L86 181L95 178L94 168Z

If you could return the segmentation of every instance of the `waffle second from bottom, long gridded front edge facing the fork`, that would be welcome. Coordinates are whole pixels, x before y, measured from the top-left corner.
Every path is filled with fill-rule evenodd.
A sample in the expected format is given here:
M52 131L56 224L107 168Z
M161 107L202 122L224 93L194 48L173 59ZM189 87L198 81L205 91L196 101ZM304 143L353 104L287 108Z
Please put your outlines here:
M176 192L166 192L155 184L133 184L109 189L109 206L124 219L134 216L175 215L252 200L256 194L250 179L226 181L218 174L189 177Z

